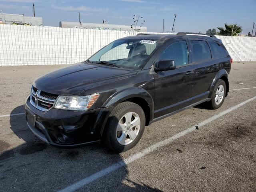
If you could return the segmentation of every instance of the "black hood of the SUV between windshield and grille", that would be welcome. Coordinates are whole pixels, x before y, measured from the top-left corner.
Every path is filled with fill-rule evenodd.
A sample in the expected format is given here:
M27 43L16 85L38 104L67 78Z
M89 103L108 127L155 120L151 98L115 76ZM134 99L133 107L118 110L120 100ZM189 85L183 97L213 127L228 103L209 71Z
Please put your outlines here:
M90 88L115 82L136 73L136 70L78 63L39 76L34 80L33 86L52 94L80 95Z

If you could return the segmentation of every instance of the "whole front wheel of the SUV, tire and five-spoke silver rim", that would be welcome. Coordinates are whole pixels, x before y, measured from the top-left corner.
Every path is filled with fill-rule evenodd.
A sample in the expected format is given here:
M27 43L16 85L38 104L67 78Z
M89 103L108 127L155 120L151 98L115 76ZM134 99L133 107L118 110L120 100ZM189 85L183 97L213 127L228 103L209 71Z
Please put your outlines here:
M144 111L139 105L133 102L118 104L108 118L103 134L104 143L114 152L124 152L133 148L142 137L145 122Z

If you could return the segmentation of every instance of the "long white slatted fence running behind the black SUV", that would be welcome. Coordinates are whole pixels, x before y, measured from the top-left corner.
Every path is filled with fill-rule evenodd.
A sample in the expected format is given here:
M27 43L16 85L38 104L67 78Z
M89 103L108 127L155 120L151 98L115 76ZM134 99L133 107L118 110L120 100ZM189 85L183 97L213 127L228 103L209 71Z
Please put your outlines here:
M73 64L127 31L0 25L0 66ZM256 61L255 37L217 36L234 61Z

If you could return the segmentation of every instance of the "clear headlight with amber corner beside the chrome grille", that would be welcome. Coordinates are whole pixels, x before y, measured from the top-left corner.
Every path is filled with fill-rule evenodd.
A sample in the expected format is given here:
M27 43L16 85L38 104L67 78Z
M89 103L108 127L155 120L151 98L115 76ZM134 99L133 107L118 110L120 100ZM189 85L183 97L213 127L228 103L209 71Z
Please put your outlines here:
M58 96L54 108L84 111L89 109L96 102L99 96L100 94L88 96Z

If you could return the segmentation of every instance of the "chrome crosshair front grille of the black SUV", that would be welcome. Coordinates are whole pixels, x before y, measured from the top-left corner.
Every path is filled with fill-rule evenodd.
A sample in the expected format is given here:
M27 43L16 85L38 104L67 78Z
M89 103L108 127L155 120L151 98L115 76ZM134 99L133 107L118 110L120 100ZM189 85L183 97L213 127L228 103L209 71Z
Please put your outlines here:
M31 94L30 94L30 103L35 108L41 111L48 111L51 108L53 108L58 95L43 92L44 94L42 96L40 93L41 93L41 90L38 90L32 86ZM48 98L44 96L48 96ZM52 98L56 98L56 99L52 99Z

